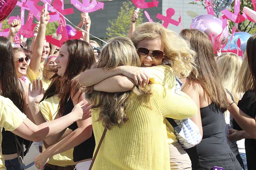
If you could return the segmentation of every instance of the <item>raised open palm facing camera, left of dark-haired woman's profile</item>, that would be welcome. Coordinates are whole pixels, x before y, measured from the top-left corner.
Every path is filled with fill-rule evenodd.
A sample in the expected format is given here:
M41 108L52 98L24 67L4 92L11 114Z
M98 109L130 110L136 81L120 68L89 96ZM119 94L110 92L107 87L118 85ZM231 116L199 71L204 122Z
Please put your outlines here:
M39 104L44 97L44 89L42 81L36 79L33 80L32 89L31 84L28 86L28 103L29 104Z

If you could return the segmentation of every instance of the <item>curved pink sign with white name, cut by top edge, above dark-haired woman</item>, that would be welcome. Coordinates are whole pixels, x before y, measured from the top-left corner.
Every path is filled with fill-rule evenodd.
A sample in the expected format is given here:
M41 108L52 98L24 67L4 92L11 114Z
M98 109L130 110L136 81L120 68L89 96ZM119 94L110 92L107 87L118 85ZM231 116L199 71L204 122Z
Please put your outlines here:
M71 4L76 7L79 11L82 12L94 12L99 9L104 8L104 3L103 2L97 2L97 0L92 0L90 3L90 0L83 0L83 3L81 3L79 0L70 0Z

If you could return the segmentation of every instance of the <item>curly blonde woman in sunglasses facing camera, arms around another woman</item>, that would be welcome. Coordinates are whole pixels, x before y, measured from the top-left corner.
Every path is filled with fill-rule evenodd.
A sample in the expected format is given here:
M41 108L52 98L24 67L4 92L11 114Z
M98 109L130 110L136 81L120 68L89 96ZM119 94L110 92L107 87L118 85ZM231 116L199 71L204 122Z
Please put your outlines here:
M178 78L187 77L192 70L196 72L192 65L195 52L189 48L189 44L175 32L164 28L159 23L146 22L137 26L131 40L139 54L140 67L169 64ZM131 90L134 84L141 87L148 84L150 71L145 71L144 68L140 67L120 66L111 70L96 68L85 71L80 76L79 82L86 87L93 85L94 90L97 91L126 92ZM157 69L161 70L161 68ZM158 77L164 78L165 70L162 71L163 73L159 74ZM196 119L201 121L200 117ZM178 143L172 125L166 119L164 121L170 148L171 168L191 169L188 154ZM196 125L199 129L202 129L200 123Z

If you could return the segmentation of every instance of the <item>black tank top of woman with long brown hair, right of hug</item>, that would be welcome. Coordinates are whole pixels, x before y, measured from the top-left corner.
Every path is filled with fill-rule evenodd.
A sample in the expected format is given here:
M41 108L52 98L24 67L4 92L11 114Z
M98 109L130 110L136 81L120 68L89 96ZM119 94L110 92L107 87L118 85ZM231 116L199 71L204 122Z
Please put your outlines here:
M193 148L186 149L192 166L197 165L197 157L213 154L231 153L231 149L226 142L225 115L220 107L215 103L200 108L203 138L202 141Z

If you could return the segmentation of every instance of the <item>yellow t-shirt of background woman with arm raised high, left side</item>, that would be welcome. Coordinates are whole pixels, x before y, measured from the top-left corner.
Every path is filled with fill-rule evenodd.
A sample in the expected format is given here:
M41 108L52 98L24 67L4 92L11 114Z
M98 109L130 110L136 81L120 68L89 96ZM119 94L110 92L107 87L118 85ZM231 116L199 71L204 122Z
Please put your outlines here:
M44 65L43 65L44 66ZM28 66L28 69L27 69L27 75L26 77L29 79L29 81L32 83L33 80L36 80L36 79L39 79L39 80L42 80L42 84L43 84L43 88L44 90L46 90L49 85L51 84L51 80L48 80L46 78L43 77L43 67L42 67L42 64L40 66L40 69L39 71L37 72L37 74L35 74L31 69L30 67Z

